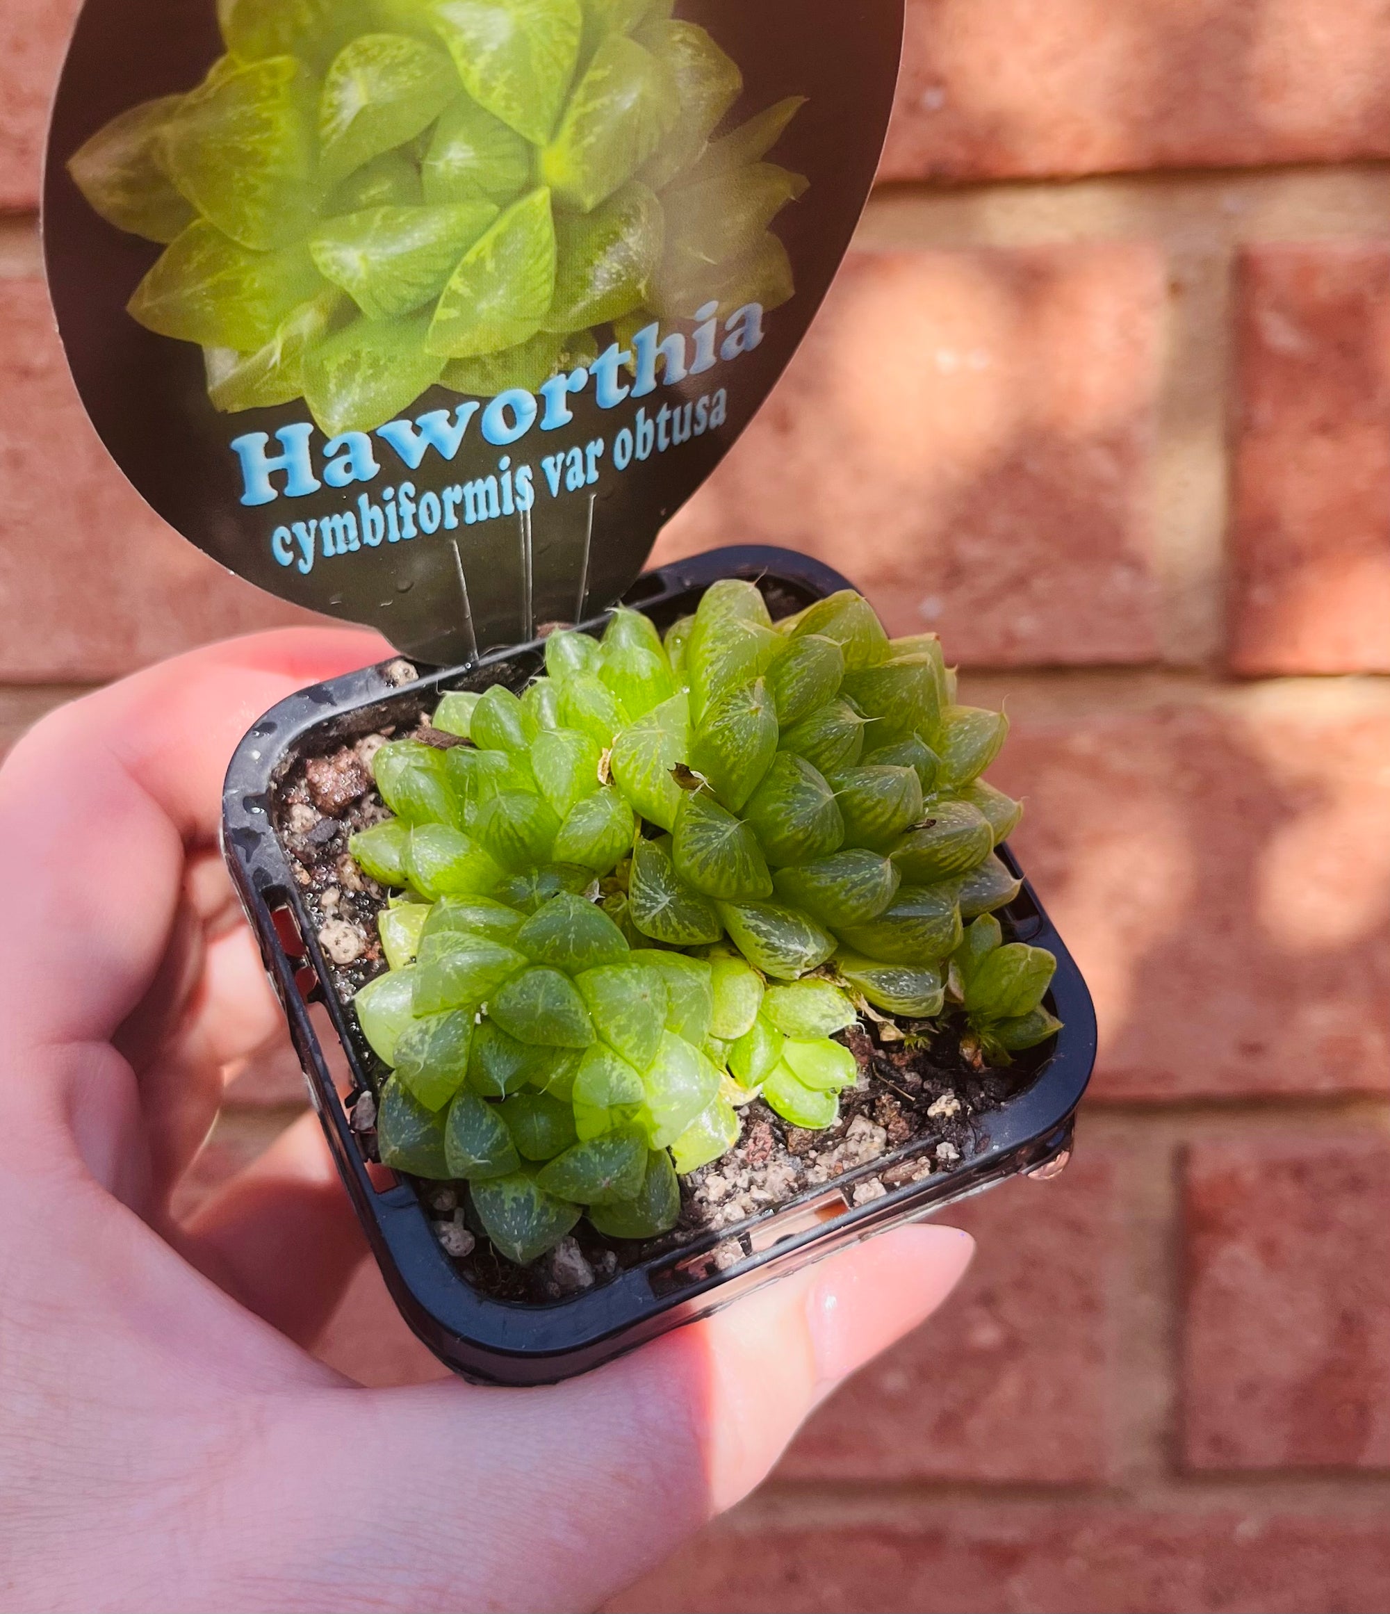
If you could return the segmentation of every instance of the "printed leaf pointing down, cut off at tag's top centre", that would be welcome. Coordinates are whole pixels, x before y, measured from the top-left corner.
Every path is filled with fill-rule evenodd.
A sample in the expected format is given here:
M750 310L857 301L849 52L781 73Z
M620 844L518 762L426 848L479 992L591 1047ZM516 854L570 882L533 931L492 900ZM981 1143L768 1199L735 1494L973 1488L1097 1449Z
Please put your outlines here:
M580 0L429 0L463 87L531 145L544 145L580 55Z

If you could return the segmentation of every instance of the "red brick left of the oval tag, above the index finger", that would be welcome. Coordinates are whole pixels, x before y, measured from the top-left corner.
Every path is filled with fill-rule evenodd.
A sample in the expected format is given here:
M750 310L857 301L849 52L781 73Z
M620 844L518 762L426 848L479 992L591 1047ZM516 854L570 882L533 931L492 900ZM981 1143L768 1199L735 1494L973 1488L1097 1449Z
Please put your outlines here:
M98 681L208 639L315 621L155 516L89 424L37 281L0 307L0 679Z

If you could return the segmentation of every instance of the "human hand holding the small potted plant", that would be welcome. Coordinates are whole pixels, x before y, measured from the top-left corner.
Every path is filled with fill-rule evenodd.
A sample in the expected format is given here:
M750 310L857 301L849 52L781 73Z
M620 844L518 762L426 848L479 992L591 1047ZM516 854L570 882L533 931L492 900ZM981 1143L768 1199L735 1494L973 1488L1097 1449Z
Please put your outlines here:
M308 1351L363 1252L313 1115L173 1222L223 1068L281 1028L216 851L228 759L386 654L355 629L199 650L0 770L6 1608L591 1608L969 1261L904 1228L554 1388L363 1390Z

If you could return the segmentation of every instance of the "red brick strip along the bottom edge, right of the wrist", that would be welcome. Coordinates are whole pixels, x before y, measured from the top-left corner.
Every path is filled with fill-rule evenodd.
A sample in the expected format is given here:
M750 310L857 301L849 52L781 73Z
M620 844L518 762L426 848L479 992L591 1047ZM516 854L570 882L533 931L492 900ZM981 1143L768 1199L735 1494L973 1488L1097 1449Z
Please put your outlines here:
M1384 1514L923 1506L705 1532L609 1614L1380 1614Z

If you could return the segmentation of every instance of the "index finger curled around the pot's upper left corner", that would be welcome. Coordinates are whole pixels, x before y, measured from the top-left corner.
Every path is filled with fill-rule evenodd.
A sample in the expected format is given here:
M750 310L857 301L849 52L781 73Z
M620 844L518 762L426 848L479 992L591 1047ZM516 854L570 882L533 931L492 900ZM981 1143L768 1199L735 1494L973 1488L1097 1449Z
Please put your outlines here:
M107 1041L163 957L184 859L211 844L242 734L305 684L389 655L294 628L194 650L74 700L0 768L0 1049L10 1072Z

